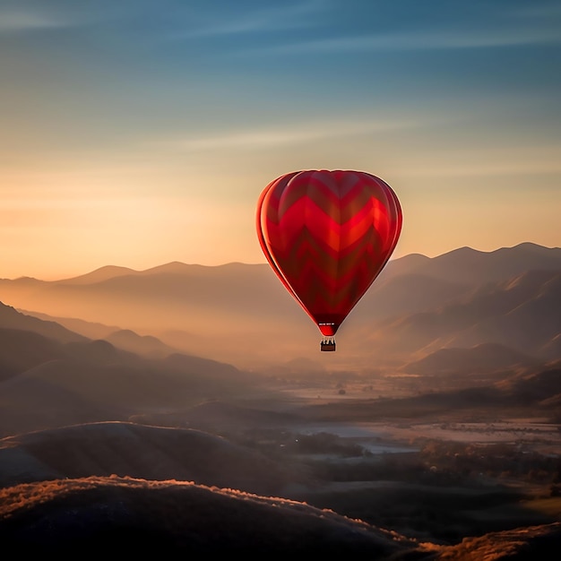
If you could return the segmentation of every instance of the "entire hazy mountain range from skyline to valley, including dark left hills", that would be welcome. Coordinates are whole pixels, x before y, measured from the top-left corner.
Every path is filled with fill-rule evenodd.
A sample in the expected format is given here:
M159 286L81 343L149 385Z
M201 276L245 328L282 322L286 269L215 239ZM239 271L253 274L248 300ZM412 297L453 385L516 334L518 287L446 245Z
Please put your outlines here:
M138 415L157 419L204 400L262 397L275 372L304 378L325 377L338 367L343 374L382 372L404 376L412 381L410 392L419 393L427 384L442 390L524 379L556 371L561 359L561 249L532 244L395 260L350 315L348 329L341 328L342 349L320 353L315 347L313 354L302 350L305 356L289 350L304 339L294 326L305 330L311 322L264 265L170 263L147 272L105 267L64 281L2 280L0 291L19 306L43 306L24 313L0 303L0 436ZM125 306L139 307L136 315L160 317L154 327L160 333L169 333L164 311L172 329L196 306L208 305L216 316L222 306L223 323L237 324L234 343L198 332L193 339L211 347L194 345L200 352L190 352L174 346L173 337L135 332L121 315L119 295ZM111 303L116 309L101 322L99 310ZM68 306L85 316L55 321L47 314ZM265 309L278 313L284 339L271 341L259 331L259 317L269 321ZM254 346L278 368L246 367ZM240 352L246 360L235 366L228 358Z

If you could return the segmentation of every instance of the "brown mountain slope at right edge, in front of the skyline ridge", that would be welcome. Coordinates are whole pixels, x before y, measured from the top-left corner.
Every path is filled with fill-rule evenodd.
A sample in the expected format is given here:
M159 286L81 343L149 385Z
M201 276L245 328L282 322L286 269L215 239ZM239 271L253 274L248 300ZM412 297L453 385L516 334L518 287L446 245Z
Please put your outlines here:
M444 348L497 343L537 358L557 358L551 341L561 332L559 302L561 269L527 271L481 285L443 306L398 316L365 330L364 340L375 355L419 353L422 358Z

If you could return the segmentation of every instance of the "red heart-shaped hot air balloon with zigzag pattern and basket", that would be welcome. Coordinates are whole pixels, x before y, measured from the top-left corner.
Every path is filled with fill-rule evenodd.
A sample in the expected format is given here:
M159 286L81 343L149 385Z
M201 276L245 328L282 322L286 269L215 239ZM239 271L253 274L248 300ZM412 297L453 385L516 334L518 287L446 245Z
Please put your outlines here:
M277 177L257 203L263 253L335 350L335 333L384 268L401 233L393 189L363 171Z

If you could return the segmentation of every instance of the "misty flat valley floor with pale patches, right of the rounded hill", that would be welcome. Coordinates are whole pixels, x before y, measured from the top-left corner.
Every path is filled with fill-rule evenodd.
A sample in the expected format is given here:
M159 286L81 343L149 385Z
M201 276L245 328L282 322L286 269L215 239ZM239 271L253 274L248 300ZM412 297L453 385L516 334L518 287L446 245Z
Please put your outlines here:
M317 476L315 485L289 488L291 498L443 543L561 520L557 422L524 407L408 417L399 401L393 412L384 409L384 419L364 421L362 407L375 410L376 400L365 399L363 388L310 383L282 390L297 409L321 411L290 428L294 442L279 436L277 444Z

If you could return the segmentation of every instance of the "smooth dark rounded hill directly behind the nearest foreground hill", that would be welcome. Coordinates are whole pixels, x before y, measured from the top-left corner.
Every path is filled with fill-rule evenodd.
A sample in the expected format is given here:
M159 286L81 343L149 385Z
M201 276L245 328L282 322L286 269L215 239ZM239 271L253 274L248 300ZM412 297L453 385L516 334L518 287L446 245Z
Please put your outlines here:
M279 494L297 474L263 454L189 428L91 423L0 440L0 486L91 475L183 479Z

